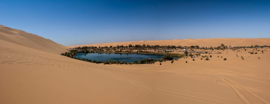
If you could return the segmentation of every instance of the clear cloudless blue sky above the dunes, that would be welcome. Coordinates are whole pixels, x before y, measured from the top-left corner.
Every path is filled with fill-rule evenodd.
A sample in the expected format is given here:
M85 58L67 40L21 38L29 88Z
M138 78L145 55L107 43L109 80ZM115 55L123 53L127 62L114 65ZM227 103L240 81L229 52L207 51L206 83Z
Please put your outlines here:
M4 0L0 24L62 45L269 38L270 1Z

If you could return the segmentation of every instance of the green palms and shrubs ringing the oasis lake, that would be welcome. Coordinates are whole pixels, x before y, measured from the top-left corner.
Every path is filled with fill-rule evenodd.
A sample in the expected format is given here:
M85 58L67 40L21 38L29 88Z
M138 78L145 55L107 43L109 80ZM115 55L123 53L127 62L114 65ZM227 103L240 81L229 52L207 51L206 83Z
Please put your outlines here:
M191 51L194 51L194 49L201 49L201 50L224 50L224 49L232 49L233 51L236 49L240 49L240 48L244 48L245 51L248 51L245 48L253 48L253 50L256 49L256 51L260 51L259 48L264 48L264 47L270 47L268 45L263 45L263 46L259 46L259 45L251 45L251 46L236 46L236 47L231 47L231 45L228 47L224 44L220 44L220 46L218 47L199 47L199 45L195 45L195 46L174 46L174 45L164 45L164 46L160 46L160 45L131 45L129 44L128 46L123 46L123 45L117 45L117 46L104 46L104 47L96 47L96 46L84 46L84 47L76 47L73 48L73 50L70 50L69 52L65 52L62 53L61 55L63 56L67 56L70 58L74 58L74 59L79 59L82 61L86 61L86 62L93 62L93 63L103 63L103 64L153 64L155 62L166 62L168 60L172 60L171 63L173 63L173 60L178 60L178 59L173 59L173 57L184 57L187 58L188 56L188 51L184 51L184 54L179 54L179 53L169 53L172 52L176 49L190 49ZM258 48L258 50L257 50ZM136 51L134 51L136 50ZM151 51L154 50L154 51ZM134 61L134 62L120 62L119 60L116 61L96 61L96 60L90 60L90 59L80 59L80 58L76 58L77 53L84 53L85 55L87 53L146 53L146 54L162 54L164 55L164 57L162 57L161 59L158 60L154 60L154 59L142 59L139 61ZM262 53L264 51L261 51ZM257 52L248 52L250 54L258 54ZM189 54L189 56L200 56L200 53L196 53L196 54ZM202 56L202 58L207 57ZM210 57L212 57L210 55ZM219 56L217 56L219 57ZM222 57L222 56L221 56ZM201 58L201 60L202 60ZM226 59L226 58L224 58ZM243 59L241 57L241 59ZM260 58L258 58L260 59ZM209 60L208 57L205 60ZM194 61L194 59L193 59ZM187 61L186 61L187 63ZM160 63L161 64L161 63Z

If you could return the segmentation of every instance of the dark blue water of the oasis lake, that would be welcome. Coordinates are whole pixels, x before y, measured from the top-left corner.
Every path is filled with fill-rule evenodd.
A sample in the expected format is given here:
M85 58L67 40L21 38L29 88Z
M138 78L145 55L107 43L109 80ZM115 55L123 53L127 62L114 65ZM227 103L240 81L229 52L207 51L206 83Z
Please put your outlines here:
M96 61L119 60L125 62L134 62L141 59L160 59L160 54L141 54L141 53L77 53L76 58L91 59Z

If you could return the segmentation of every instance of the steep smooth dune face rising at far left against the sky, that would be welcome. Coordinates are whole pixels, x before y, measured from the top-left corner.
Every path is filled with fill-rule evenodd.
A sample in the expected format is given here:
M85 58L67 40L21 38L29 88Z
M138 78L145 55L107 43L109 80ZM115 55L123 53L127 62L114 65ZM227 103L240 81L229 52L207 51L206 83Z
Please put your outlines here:
M55 54L67 51L67 47L54 41L3 25L0 25L0 40Z

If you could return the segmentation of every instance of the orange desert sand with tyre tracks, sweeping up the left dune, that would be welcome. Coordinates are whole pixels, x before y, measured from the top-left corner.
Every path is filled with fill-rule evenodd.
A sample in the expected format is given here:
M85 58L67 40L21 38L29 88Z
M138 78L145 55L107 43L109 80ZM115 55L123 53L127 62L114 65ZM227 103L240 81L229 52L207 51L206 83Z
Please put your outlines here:
M217 41L213 45L229 45L218 39L209 40ZM252 43L231 41L230 44L270 45L269 38L239 40ZM165 45L166 41L159 42ZM148 42L145 44L156 44ZM190 45L200 43L187 46ZM94 64L59 55L66 51L65 48L37 35L1 26L0 104L270 102L269 48L259 48L264 51L258 51L259 54L249 54L251 49L225 50L221 51L221 54L202 54L212 55L208 61L201 60L201 57L188 57L173 64L170 61L162 62L162 65L159 65L159 62L132 65ZM240 56L243 56L244 60ZM224 61L223 58L227 60Z

